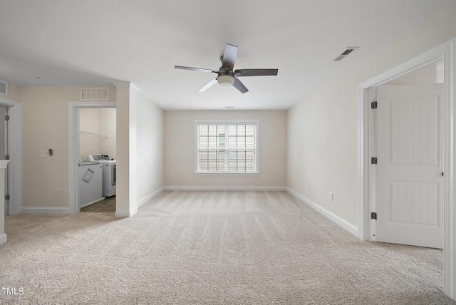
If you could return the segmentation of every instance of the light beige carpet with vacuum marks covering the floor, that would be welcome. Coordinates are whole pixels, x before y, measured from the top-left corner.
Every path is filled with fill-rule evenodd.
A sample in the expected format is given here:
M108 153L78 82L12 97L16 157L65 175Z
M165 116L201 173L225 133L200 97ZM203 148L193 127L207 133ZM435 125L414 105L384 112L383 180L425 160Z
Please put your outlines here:
M162 192L131 218L6 217L0 304L456 304L442 251L361 242L287 192Z

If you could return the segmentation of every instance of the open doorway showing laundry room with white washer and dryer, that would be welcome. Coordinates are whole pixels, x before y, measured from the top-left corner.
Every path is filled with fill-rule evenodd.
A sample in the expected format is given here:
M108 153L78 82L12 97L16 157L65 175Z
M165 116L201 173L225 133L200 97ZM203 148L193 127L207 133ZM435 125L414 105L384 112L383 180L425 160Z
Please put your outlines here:
M71 102L68 111L71 212L114 213L117 138L115 102ZM105 195L103 195L103 162L94 160L97 157L100 159L102 155L103 161L110 165L110 174L112 173L109 181L106 182L111 186L110 191Z

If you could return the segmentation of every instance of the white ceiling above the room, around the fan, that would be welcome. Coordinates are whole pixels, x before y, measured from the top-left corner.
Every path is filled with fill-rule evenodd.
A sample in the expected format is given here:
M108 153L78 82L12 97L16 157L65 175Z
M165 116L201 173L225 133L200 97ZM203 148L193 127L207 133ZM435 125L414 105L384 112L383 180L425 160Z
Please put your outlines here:
M19 86L131 81L162 109L288 109L454 0L0 0L0 79ZM249 92L175 65L278 68ZM348 46L359 46L333 62Z

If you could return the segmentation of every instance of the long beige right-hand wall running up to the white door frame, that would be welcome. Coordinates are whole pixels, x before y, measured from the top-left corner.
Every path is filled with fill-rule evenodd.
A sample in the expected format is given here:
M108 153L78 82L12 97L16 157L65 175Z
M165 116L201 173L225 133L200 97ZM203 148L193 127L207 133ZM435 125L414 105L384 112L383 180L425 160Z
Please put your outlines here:
M455 16L452 4L288 111L291 190L358 225L358 84L456 36Z

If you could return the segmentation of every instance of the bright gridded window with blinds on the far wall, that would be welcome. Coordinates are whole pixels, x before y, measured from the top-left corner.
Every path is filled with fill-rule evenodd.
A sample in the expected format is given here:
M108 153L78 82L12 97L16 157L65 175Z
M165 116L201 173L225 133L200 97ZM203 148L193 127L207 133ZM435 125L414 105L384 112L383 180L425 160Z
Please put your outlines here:
M195 172L257 173L257 120L198 120L195 124Z

